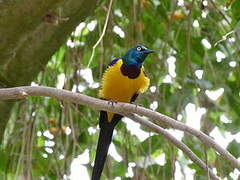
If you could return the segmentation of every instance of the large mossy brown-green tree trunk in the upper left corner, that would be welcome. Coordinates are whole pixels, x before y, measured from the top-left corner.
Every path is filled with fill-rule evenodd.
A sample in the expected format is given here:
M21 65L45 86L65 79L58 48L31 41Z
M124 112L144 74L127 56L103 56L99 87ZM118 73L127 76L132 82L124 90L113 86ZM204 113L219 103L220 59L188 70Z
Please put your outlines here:
M98 0L0 0L0 88L29 85ZM13 101L0 102L0 142Z

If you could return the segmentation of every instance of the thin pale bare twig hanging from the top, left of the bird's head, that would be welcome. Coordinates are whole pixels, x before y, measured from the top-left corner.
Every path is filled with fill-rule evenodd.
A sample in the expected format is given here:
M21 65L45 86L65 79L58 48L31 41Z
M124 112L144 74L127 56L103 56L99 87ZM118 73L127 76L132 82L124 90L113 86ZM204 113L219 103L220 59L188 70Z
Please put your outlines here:
M101 34L100 38L98 39L98 41L93 46L92 55L91 55L90 60L88 62L87 68L89 68L90 64L92 63L93 57L95 55L96 47L102 41L102 39L103 39L103 37L104 37L104 35L106 33L106 29L107 29L107 25L108 25L108 21L109 21L109 17L110 17L110 12L111 12L111 9L112 9L112 2L113 2L113 0L110 0L110 4L109 4L109 7L108 7L108 12L107 12L107 17L106 17L106 20L105 20L105 24L104 24L104 27L103 27L102 34Z

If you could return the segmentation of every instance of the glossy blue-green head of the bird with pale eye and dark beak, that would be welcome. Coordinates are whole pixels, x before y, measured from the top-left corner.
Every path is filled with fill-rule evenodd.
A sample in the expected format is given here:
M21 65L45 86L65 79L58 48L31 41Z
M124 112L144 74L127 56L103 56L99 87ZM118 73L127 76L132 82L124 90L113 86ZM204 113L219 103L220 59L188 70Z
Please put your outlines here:
M144 46L136 46L128 50L128 52L122 57L123 63L127 66L135 65L140 68L148 54L153 52L153 50L147 49Z

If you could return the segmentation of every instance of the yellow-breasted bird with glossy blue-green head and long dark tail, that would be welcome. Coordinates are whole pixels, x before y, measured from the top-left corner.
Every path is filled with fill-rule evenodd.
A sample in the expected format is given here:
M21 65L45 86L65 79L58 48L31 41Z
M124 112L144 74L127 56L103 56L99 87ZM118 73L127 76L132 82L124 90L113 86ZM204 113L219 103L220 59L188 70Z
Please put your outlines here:
M99 98L109 102L133 103L139 93L144 93L149 86L150 80L145 75L143 63L153 52L138 45L129 49L121 58L112 60L103 73ZM113 130L122 117L116 113L100 111L100 133L91 180L101 178Z

